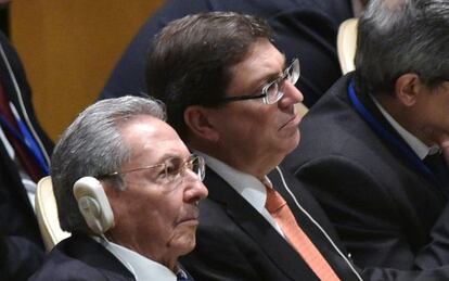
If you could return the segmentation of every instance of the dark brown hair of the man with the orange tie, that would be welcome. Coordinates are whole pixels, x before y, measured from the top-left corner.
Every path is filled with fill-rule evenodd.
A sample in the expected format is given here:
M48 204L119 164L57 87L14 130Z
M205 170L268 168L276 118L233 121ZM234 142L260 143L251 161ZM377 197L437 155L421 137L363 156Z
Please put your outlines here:
M146 65L149 93L167 106L167 120L187 139L184 110L218 106L242 62L260 38L271 40L265 20L233 12L188 15L155 38Z

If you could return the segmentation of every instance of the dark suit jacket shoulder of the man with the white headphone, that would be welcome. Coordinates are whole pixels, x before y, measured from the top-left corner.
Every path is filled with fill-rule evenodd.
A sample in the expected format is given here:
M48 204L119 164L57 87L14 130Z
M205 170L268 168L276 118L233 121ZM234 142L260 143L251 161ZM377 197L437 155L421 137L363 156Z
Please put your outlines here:
M30 280L134 280L131 272L104 246L82 234L60 242Z

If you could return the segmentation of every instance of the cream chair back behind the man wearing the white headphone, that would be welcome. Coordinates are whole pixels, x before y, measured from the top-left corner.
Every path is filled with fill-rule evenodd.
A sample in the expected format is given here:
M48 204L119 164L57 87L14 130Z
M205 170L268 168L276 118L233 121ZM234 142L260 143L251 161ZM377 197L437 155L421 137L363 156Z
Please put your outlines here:
M61 240L70 235L69 232L61 229L53 183L50 176L40 179L37 184L36 216L47 251L52 250Z

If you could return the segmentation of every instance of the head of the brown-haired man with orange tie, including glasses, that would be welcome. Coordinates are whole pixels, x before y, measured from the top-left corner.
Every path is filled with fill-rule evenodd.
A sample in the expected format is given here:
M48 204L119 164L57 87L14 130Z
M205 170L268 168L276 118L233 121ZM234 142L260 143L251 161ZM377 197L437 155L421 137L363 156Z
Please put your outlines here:
M258 17L188 15L168 24L150 51L151 95L193 149L261 176L299 141L299 63L287 62Z

